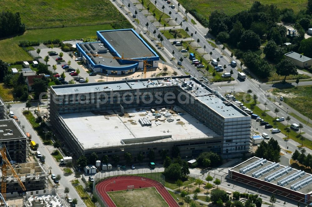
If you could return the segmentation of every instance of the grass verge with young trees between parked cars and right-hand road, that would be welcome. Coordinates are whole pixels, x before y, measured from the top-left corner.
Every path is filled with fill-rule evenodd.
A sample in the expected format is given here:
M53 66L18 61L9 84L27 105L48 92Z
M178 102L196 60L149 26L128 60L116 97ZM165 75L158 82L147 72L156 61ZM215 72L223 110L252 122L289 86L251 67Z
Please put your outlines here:
M244 106L246 106L247 108L251 108L251 105L254 103L254 101L252 99L252 95L251 95L251 99L249 101L249 96L248 95L246 96L246 93L235 93L235 97L236 97L237 100L241 101L244 104ZM243 97L246 97L246 98L244 99ZM249 103L247 103L247 102L249 102ZM274 128L280 129L280 133L282 133L284 135L287 135L287 137L288 137L288 132L286 132L287 126L283 125L280 122L276 122L276 126L275 126L275 123L273 122L273 120L275 120L275 117L271 117L268 114L266 114L266 116L263 117L262 113L264 111L261 110L257 106L255 106L255 108L252 109L252 111L253 111L254 114L257 114L262 119L264 119L264 121L269 122L269 124L271 124ZM286 123L287 123L287 121L286 121ZM291 121L288 123L288 125L290 126L290 124L291 124ZM264 128L264 126L260 126L260 123L257 123L255 128L259 128L259 127L263 127ZM301 132L301 134L302 134L302 132ZM289 139L292 139L292 140L300 143L300 146L301 146L302 141L300 140L300 137L301 137L301 135L299 135L299 131L297 133L294 130L290 130L290 132L289 132ZM309 149L312 149L312 142L310 140L304 138L303 146L305 146L305 147L307 147Z

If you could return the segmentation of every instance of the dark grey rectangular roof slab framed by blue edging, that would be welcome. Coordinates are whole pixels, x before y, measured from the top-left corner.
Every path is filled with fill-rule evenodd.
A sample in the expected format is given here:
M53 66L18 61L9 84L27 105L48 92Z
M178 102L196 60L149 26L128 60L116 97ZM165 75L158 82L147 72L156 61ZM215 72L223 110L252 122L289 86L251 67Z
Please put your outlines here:
M110 30L100 34L120 55L124 53L124 58L155 56L132 30Z

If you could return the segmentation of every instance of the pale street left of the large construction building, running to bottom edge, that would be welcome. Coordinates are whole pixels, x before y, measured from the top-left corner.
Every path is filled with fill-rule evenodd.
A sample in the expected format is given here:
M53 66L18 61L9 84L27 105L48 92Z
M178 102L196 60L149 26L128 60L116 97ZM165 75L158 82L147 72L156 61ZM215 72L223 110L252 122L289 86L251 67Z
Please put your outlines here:
M37 103L33 104L33 106L36 107ZM70 197L71 199L76 198L78 200L78 204L77 204L78 206L86 206L83 203L83 201L80 199L75 188L71 185L70 181L74 179L73 175L69 177L66 177L63 175L64 172L61 170L59 163L57 163L55 159L52 157L52 155L50 154L51 150L55 150L55 149L51 145L43 145L42 141L37 136L37 133L33 130L32 126L29 124L27 119L22 114L22 111L24 108L25 108L25 103L12 104L11 110L17 116L18 120L21 122L21 125L25 126L25 131L29 132L32 135L32 140L34 140L36 143L39 144L38 151L40 151L42 155L46 156L45 164L43 164L46 170L49 172L48 168L52 167L52 170L51 170L52 174L55 174L55 175L60 174L62 176L61 180L59 181L60 185L57 187L57 192L63 196L64 195L66 196L66 194L64 193L64 189L67 186L70 189L70 192L68 193L68 197ZM49 175L49 179L51 180L52 184L54 184L50 175Z

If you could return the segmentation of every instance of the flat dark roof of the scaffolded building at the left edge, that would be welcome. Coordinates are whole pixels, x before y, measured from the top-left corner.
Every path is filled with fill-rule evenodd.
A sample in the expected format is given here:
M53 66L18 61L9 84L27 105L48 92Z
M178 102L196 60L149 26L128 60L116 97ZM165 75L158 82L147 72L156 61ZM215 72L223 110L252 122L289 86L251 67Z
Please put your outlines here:
M26 135L18 127L13 119L0 120L0 141L26 138Z

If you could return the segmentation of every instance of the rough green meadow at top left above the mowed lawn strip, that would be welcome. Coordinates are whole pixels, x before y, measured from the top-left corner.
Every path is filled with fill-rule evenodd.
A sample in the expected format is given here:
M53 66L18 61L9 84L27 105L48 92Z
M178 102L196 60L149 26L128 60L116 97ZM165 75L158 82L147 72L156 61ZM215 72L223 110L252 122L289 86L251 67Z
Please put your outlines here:
M3 0L1 7L3 11L19 12L26 29L126 21L109 0Z

